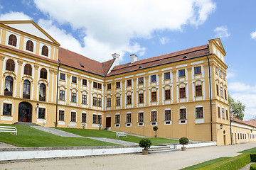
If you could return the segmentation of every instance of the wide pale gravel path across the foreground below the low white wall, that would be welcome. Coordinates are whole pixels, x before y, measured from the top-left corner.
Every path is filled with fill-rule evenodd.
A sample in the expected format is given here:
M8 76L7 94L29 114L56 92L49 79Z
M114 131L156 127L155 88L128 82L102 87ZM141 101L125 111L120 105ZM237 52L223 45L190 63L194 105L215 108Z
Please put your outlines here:
M251 142L240 145L221 147L201 147L176 152L159 154L121 154L108 157L86 157L79 159L53 159L33 162L16 162L0 164L0 169L39 169L39 170L70 170L70 169L182 169L186 166L206 162L218 157L235 157L242 150L255 147Z

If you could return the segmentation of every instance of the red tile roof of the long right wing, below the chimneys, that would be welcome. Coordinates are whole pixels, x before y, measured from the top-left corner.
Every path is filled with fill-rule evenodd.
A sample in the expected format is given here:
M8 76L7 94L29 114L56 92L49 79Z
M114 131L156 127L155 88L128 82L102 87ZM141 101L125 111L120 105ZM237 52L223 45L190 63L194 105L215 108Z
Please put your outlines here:
M117 74L123 74L126 72L134 72L140 69L146 69L150 67L156 67L162 64L169 64L172 62L179 62L183 60L189 60L196 57L201 57L206 55L206 52L208 52L208 45L201 45L198 47L192 47L188 48L186 50L181 50L178 52L172 52L167 55L160 55L157 57L151 57L144 60L139 60L134 63L127 63L115 66L107 76L117 75ZM183 57L186 56L186 59L183 59Z

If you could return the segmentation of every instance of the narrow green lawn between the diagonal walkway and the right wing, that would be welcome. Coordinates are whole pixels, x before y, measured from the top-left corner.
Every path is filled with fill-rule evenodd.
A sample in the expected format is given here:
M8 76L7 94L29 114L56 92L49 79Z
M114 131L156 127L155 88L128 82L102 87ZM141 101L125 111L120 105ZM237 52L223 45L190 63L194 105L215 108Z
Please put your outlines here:
M110 132L107 130L88 130L88 129L75 129L75 128L57 128L59 130L64 130L66 132L71 132L76 135L84 136L84 137L107 137L110 139L116 140L124 140L128 142L135 142L139 143L139 140L142 139L149 139L151 140L152 145L159 145L159 144L168 144L168 143L178 143L178 140L170 140L166 138L159 138L159 137L136 137L132 135L127 135L127 137L115 137L115 132Z

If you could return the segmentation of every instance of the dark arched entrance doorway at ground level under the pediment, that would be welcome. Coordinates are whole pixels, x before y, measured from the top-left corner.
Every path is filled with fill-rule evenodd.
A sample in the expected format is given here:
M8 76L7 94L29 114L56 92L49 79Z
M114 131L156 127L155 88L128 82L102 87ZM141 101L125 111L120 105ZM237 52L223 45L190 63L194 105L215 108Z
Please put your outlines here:
M32 120L32 106L31 103L21 102L18 104L18 122L29 122Z

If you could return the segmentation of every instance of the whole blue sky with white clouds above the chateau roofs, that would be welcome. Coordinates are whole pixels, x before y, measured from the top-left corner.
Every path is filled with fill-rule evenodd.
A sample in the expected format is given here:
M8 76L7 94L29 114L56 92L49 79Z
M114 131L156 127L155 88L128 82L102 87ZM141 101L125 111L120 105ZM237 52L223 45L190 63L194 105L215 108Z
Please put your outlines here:
M227 53L228 91L256 115L256 1L0 0L0 20L33 20L61 47L121 64L220 38Z

